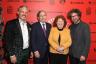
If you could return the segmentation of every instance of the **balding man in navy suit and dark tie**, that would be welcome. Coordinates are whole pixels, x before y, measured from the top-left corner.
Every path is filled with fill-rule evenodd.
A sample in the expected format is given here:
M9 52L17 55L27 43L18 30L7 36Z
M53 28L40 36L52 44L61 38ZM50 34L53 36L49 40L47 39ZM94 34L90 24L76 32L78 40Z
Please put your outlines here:
M51 25L46 22L46 12L37 13L38 22L32 25L31 45L35 55L35 64L48 64L49 44L48 36Z

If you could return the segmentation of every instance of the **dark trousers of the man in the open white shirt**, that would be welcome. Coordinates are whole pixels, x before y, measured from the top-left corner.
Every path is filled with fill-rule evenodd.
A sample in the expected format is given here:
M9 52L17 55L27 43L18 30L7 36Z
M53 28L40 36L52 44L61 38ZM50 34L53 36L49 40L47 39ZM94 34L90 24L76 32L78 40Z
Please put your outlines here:
M29 50L28 49L22 50L22 52L19 55L17 52L16 57L17 57L16 64L28 64ZM12 64L12 63L8 62L8 64Z

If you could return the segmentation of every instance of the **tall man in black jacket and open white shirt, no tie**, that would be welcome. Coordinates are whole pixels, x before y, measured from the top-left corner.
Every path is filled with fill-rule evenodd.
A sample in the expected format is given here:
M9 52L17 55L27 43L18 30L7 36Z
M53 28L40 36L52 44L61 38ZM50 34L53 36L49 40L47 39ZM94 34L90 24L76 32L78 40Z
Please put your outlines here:
M10 59L9 64L27 64L30 38L30 24L27 22L28 7L20 6L17 14L17 19L6 23L4 42Z

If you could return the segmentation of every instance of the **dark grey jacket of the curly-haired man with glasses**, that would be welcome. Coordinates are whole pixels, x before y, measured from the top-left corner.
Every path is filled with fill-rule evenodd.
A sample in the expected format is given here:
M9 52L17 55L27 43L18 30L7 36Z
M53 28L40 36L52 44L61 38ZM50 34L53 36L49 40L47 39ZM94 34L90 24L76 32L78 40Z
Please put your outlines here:
M80 22L70 26L72 45L70 47L70 55L80 58L81 55L87 57L90 48L90 30L89 26Z

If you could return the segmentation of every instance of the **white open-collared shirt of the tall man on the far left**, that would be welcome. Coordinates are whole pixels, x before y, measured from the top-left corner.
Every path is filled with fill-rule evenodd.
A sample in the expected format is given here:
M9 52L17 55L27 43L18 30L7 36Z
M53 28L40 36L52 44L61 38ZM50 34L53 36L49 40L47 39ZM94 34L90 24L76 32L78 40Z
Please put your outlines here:
M23 37L23 49L26 49L29 47L29 37L28 37L28 28L27 23L19 19L21 31L22 31L22 37Z

